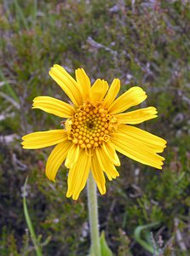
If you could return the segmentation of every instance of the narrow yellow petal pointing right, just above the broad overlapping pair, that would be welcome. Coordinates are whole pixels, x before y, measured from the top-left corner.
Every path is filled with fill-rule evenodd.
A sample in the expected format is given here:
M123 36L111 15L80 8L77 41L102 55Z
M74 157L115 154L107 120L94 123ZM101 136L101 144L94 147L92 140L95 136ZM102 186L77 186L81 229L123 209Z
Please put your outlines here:
M116 118L120 124L136 125L157 117L157 110L153 107L141 108L128 113L118 113Z

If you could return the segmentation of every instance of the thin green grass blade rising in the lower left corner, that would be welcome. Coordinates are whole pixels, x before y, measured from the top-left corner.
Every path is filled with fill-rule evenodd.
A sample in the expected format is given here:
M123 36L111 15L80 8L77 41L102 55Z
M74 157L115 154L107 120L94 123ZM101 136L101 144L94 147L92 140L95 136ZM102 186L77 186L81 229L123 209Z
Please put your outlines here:
M41 248L37 245L37 236L35 235L35 232L34 232L34 229L32 226L32 221L31 221L31 218L30 218L30 215L29 215L29 212L27 209L27 205L26 205L27 180L28 180L28 177L26 177L26 181L24 184L24 196L23 196L23 208L24 208L24 213L25 213L25 218L26 218L26 224L27 224L28 230L30 231L32 242L33 242L34 248L36 250L37 256L42 256L43 254L42 254Z

